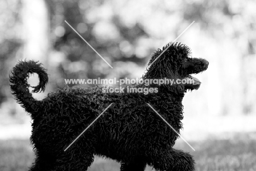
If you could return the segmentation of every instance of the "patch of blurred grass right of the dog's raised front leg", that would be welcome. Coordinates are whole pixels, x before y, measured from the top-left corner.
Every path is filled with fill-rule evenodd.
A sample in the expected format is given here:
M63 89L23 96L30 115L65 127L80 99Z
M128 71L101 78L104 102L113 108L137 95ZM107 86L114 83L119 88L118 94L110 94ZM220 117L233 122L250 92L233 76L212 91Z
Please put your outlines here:
M189 151L196 161L197 171L253 171L256 170L256 140L249 135L236 135L232 139L212 139L191 143L192 151L186 144L177 149Z

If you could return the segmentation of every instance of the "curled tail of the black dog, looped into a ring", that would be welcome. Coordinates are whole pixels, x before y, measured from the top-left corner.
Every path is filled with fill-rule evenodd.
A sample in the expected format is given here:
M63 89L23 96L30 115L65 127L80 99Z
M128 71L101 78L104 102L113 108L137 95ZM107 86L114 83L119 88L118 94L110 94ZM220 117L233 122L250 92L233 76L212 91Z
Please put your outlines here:
M34 61L20 61L11 70L11 75L9 75L10 82L12 85L11 91L15 96L16 101L21 104L23 108L28 113L38 110L37 105L39 101L32 97L32 93L28 90L30 85L27 84L28 74L37 73L39 76L39 84L34 87L33 92L41 92L45 90L45 85L48 83L48 75L46 69L44 69L41 63Z

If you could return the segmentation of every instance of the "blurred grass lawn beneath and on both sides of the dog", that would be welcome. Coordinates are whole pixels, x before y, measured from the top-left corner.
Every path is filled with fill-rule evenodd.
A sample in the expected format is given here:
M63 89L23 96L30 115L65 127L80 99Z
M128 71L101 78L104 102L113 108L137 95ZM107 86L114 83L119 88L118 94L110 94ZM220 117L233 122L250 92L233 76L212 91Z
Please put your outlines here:
M190 142L196 149L193 151L182 141L175 145L176 149L190 152L196 161L197 171L253 171L256 170L256 139L252 135L238 134L231 139L208 139L200 142ZM0 170L28 170L34 156L29 140L0 141ZM115 171L120 165L112 160L95 158L88 171ZM147 167L147 171L152 168Z

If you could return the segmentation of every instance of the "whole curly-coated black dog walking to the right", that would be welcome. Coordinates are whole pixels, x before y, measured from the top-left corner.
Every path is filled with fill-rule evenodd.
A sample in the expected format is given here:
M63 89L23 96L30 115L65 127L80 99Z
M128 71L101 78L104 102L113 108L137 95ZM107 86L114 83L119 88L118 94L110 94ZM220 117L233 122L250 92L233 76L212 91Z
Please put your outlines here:
M166 52L154 63L163 50ZM187 46L167 44L154 52L143 79L185 79L206 70L208 62L191 58ZM34 92L44 91L48 76L40 63L19 62L11 72L11 90L18 103L33 119L31 142L36 160L30 170L87 170L94 155L117 160L121 170L194 170L191 155L173 149L178 135L168 127L147 103L161 114L177 132L182 128L182 99L196 85L149 85L158 93L103 93L97 89L72 88L51 92L37 101L28 91L28 73L37 73L40 83ZM137 85L137 87L147 87ZM75 143L67 146L108 108Z

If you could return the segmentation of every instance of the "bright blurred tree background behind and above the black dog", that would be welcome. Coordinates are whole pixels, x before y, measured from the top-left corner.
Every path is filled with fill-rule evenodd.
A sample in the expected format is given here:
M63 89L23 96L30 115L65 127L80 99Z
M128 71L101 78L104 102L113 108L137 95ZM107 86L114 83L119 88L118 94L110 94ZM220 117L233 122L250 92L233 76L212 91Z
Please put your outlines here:
M185 95L183 137L198 140L203 133L255 132L255 9L253 0L0 0L0 139L28 139L30 134L30 117L11 97L9 87L8 74L18 60L37 60L48 68L49 85L45 93L34 94L38 99L65 87L64 79L140 78L150 54L193 21L177 41L210 66L196 75L200 89ZM252 145L247 149L255 152ZM230 159L223 161L225 165Z

